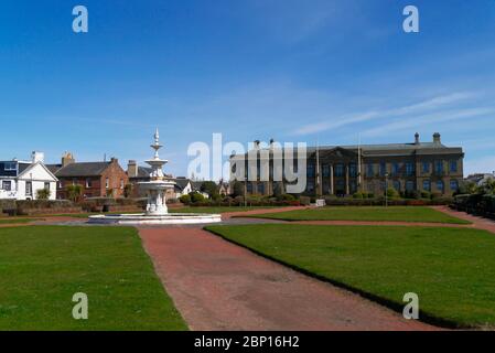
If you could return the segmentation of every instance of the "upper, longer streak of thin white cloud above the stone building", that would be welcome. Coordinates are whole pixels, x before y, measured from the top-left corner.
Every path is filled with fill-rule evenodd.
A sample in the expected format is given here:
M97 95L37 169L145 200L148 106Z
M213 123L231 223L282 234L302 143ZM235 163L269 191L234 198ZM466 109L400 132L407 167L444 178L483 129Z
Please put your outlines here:
M319 121L314 124L309 124L303 127L298 128L292 132L295 136L304 136L311 135L315 132L321 132L330 129L341 128L347 125L370 121L375 119L389 118L389 117L401 117L410 114L416 114L420 111L427 110L435 110L443 106L452 105L469 98L474 97L474 93L453 93L449 95L433 97L417 104L391 108L391 109L381 109L381 110L370 110L366 113L344 115L336 119L332 119L330 121Z

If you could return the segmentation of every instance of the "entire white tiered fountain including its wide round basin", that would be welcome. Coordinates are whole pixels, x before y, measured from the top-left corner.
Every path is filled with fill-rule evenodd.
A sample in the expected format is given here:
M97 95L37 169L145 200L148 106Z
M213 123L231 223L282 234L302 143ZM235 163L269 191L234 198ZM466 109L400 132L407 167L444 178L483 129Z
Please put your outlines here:
M197 224L222 222L219 214L169 213L166 207L166 190L173 189L175 182L168 180L163 173L166 160L160 159L160 133L154 132L154 157L146 161L151 165L150 181L138 183L139 189L147 192L147 211L142 214L109 214L89 216L89 223L104 224Z

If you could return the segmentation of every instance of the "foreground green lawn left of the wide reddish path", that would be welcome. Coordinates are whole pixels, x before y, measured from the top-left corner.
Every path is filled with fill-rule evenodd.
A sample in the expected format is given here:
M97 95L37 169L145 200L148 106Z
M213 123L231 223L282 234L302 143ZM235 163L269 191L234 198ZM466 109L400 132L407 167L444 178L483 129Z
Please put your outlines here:
M72 317L88 296L88 320ZM0 228L0 330L186 330L130 227Z

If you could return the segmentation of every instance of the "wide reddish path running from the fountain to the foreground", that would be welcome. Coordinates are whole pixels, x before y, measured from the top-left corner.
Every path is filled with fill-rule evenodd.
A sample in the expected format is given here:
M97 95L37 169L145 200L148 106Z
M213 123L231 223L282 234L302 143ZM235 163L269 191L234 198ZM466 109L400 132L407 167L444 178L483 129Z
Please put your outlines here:
M438 330L197 227L139 234L192 330Z

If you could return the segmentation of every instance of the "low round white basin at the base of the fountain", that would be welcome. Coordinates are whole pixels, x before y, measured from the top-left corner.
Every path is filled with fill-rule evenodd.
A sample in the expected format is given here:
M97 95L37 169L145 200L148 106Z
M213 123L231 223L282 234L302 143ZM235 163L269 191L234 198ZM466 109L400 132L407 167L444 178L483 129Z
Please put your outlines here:
M150 225L170 225L170 224L207 224L222 222L219 214L206 213L169 213L165 215L138 214L99 214L89 216L93 224L150 224Z

